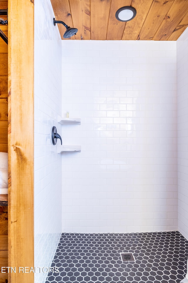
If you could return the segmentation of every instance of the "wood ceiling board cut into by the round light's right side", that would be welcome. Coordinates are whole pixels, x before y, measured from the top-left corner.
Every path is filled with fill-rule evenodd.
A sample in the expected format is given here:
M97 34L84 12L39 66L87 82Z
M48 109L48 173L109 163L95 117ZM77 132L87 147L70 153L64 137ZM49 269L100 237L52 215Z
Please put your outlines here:
M122 40L137 40L152 1L153 0L132 0L131 6L136 9L137 14L134 19L126 23Z

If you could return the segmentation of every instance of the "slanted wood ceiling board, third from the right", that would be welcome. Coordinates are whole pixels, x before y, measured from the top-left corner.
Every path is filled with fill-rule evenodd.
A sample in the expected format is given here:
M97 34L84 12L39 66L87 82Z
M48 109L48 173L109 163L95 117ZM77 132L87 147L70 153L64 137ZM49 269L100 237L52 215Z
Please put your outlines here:
M139 40L152 40L164 17L172 6L174 0L154 0L147 14L142 29L138 35Z

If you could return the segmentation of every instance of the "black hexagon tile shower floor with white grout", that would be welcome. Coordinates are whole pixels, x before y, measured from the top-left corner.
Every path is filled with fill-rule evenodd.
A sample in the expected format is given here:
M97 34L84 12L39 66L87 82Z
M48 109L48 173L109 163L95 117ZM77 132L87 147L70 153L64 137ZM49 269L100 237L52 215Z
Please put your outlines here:
M120 253L133 253L122 262ZM188 241L178 232L63 233L46 283L179 283L187 270Z

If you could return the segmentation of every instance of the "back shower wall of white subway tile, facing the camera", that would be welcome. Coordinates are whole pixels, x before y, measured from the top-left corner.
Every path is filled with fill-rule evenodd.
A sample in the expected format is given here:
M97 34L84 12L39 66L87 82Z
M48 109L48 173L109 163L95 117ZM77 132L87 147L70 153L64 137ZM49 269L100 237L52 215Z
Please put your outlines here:
M176 42L63 41L63 232L177 230Z

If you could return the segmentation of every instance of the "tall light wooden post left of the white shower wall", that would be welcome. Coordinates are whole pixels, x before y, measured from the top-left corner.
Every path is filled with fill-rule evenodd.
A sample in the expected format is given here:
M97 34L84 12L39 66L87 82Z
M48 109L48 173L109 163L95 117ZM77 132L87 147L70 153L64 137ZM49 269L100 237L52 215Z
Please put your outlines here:
M34 1L9 0L9 262L34 266L33 81ZM20 20L21 19L21 20ZM29 19L29 21L28 21ZM24 25L23 25L24 23ZM21 31L21 32L20 32ZM10 184L11 173L11 184ZM33 283L33 273L9 273L9 283Z

